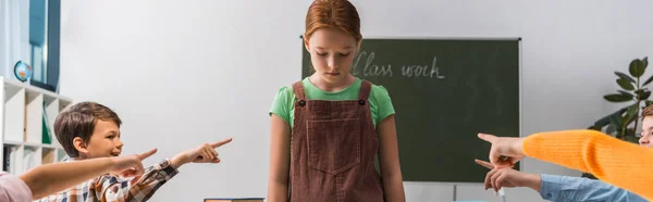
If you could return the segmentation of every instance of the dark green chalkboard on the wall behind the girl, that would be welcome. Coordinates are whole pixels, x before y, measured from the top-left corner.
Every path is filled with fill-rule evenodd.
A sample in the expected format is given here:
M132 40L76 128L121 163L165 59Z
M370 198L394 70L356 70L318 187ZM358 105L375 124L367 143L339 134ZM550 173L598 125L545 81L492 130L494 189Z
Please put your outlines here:
M352 73L385 87L404 181L482 182L490 144L518 137L519 39L364 39ZM301 78L312 74L301 45ZM518 168L516 165L515 168Z

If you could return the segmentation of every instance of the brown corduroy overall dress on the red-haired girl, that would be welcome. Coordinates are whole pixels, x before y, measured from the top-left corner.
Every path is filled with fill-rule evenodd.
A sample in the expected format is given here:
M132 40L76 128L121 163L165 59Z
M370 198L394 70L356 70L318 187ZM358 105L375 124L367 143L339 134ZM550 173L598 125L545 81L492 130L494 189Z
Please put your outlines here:
M295 118L291 135L289 201L383 201L374 168L379 138L364 80L358 100L307 100L301 81L293 85Z

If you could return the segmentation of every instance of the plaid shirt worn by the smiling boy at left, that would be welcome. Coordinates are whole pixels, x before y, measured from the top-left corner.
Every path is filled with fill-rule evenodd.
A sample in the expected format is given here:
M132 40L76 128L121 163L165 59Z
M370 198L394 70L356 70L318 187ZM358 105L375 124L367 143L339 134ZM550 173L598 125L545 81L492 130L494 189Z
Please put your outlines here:
M69 159L66 161L73 161ZM102 175L38 202L136 202L147 201L163 184L178 172L168 160L145 169L140 180L130 186L130 180L113 175Z

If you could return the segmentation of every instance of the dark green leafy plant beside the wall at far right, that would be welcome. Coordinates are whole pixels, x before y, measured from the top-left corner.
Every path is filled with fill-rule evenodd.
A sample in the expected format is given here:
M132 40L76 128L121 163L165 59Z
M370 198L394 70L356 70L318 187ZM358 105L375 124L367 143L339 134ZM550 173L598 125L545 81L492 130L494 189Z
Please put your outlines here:
M634 59L628 67L629 75L615 72L615 75L617 75L616 83L620 89L617 90L617 93L603 96L603 99L613 103L628 104L594 122L588 129L603 131L625 141L638 142L639 138L636 136L636 130L641 121L640 110L653 103L649 100L651 90L645 87L653 81L653 76L645 80L641 79L648 65L648 58ZM583 177L595 178L590 174L583 174Z

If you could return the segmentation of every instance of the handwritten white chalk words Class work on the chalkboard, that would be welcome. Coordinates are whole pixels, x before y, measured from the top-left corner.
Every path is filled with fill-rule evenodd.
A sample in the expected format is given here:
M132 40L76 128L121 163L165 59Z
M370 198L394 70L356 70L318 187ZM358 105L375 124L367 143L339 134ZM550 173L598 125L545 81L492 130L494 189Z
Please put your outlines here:
M352 74L355 76L380 76L380 77L392 77L394 76L394 70L392 68L392 64L374 64L374 52L366 52L361 51L356 56L354 61L354 66L352 67ZM365 61L365 64L361 65L361 60ZM445 76L440 72L440 67L438 66L438 56L433 56L431 64L402 64L396 65L401 66L401 76L404 77L412 77L412 78L438 78L444 79Z

